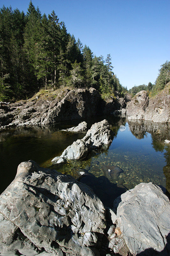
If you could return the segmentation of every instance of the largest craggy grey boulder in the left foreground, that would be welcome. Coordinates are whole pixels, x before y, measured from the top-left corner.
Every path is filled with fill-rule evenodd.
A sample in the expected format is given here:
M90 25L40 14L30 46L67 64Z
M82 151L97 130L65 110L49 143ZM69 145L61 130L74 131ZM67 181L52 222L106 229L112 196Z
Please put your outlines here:
M96 256L105 209L86 185L33 161L0 196L0 254Z

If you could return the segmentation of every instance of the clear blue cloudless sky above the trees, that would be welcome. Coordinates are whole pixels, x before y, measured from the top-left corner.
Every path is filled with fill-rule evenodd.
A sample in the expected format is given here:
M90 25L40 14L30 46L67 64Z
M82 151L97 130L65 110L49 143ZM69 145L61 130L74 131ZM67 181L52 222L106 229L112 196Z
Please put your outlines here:
M53 9L67 31L96 56L110 53L122 85L155 82L170 60L170 0L32 0L41 13ZM29 0L0 0L26 13Z

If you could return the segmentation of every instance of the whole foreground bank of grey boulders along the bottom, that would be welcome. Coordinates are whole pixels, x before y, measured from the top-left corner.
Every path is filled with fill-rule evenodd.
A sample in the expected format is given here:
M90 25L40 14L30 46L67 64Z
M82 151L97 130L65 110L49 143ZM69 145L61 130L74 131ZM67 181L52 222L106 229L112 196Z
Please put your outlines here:
M158 186L141 183L113 206L69 175L23 162L0 196L0 253L169 255L170 203Z

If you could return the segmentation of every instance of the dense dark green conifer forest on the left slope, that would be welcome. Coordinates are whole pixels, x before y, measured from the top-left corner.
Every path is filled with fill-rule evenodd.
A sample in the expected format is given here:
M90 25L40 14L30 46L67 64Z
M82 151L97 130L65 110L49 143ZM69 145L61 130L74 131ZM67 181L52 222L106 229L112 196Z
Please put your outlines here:
M103 95L123 87L113 73L110 54L97 57L67 32L54 11L41 15L30 2L25 14L0 9L0 100L27 98L42 87L94 87Z

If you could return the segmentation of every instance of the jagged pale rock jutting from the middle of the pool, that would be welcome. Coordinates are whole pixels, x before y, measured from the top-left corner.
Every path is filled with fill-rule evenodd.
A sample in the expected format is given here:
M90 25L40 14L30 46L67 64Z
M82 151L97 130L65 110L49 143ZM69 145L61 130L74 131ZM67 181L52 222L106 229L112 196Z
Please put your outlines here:
M63 151L60 157L55 157L52 162L59 164L64 161L63 159L80 159L92 149L111 144L112 140L113 132L110 130L107 120L92 124L83 139L74 141Z

